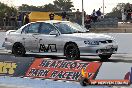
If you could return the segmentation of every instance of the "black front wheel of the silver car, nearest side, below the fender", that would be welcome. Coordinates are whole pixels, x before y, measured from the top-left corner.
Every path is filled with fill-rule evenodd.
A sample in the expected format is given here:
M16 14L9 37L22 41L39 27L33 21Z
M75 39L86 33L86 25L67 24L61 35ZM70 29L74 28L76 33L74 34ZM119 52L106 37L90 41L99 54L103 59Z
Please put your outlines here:
M80 51L74 43L70 43L65 46L64 55L68 60L80 59Z

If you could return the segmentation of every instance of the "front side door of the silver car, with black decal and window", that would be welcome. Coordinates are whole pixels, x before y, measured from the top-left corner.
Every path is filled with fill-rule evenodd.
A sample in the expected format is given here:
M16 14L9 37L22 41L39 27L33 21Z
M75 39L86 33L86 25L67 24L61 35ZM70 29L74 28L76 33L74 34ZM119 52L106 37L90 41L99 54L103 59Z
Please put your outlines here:
M56 28L49 23L41 23L40 31L39 31L39 52L44 53L57 53L59 49L59 36L50 35L51 32L59 32Z

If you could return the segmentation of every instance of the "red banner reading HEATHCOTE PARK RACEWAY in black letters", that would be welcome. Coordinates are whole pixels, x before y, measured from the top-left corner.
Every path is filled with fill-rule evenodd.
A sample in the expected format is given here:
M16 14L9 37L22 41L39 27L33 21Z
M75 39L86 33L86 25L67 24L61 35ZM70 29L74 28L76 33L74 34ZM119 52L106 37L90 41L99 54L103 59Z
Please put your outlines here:
M82 68L94 79L101 62L84 62L70 60L35 59L26 73L26 77L48 78L54 80L79 81Z

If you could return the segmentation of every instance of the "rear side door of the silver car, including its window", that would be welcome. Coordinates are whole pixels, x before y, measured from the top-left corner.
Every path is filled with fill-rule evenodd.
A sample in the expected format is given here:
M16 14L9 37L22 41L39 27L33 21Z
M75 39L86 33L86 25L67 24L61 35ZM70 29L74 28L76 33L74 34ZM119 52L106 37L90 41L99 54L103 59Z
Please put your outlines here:
M24 47L28 52L38 51L38 36L40 23L31 23L23 30Z

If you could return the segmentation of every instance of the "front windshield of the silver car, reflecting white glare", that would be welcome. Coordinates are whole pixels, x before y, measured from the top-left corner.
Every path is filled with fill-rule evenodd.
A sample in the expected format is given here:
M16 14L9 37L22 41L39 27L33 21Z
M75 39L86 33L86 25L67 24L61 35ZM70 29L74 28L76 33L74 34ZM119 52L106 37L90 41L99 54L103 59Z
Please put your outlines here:
M54 23L54 26L61 32L61 34L72 34L72 33L85 33L86 28L83 28L77 23L71 22L59 22Z

